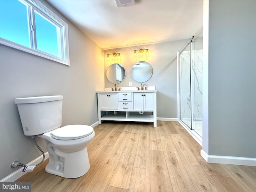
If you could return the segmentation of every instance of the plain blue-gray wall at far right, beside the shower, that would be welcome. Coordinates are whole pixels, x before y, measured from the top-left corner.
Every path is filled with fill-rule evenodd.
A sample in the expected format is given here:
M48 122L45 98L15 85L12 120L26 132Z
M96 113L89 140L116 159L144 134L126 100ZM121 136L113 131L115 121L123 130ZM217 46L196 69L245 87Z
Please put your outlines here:
M255 10L255 0L209 0L209 155L256 158Z

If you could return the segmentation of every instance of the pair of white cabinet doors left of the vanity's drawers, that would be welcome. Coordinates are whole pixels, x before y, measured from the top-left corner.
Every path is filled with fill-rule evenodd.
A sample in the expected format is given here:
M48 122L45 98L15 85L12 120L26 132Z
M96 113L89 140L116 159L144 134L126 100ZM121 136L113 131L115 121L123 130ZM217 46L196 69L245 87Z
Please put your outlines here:
M101 110L118 110L117 93L100 93Z

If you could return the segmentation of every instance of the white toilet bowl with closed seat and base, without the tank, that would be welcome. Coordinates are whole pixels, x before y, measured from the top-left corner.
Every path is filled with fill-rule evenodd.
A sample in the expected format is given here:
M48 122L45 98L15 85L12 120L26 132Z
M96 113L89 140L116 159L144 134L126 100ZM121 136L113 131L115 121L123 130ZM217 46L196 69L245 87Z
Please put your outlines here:
M93 128L87 125L68 125L38 135L47 142L49 163L45 171L64 178L86 174L90 169L86 146L94 136Z

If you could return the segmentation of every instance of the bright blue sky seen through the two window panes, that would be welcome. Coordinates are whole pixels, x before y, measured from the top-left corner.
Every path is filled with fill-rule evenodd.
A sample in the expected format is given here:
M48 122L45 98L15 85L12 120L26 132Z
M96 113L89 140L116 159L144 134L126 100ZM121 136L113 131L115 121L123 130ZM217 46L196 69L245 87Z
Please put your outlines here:
M28 9L19 0L0 0L0 38L31 47ZM60 27L34 11L37 50L62 58Z

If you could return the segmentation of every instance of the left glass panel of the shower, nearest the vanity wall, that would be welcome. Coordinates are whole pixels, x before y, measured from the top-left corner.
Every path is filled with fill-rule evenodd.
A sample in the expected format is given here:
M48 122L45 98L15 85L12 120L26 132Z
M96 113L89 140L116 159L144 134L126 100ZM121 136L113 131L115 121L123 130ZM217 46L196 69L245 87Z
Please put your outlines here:
M190 38L179 51L180 120L191 129Z

